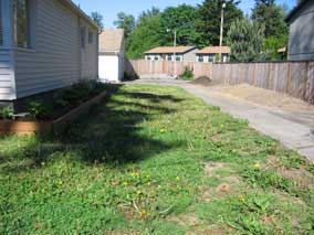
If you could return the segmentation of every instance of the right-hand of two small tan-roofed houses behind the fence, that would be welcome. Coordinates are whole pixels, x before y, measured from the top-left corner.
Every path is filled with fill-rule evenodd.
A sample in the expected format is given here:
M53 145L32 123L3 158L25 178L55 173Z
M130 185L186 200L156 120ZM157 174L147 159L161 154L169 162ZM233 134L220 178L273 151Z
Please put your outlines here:
M197 52L197 62L220 62L219 54L222 56L222 62L229 62L229 46L208 46Z

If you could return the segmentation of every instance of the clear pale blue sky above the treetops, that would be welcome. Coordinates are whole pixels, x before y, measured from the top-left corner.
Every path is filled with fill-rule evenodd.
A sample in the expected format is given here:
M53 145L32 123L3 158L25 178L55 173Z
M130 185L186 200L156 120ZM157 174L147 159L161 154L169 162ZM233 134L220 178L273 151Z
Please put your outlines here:
M126 13L137 17L140 12L157 7L164 10L167 7L174 7L178 4L191 4L197 6L203 0L73 0L76 4L80 4L81 9L87 14L93 11L97 11L104 17L105 28L114 28L113 22L116 20L118 12L124 11ZM294 8L297 0L276 0L278 4L286 3L290 9ZM254 6L254 0L242 0L240 8L245 14L250 14L251 9Z

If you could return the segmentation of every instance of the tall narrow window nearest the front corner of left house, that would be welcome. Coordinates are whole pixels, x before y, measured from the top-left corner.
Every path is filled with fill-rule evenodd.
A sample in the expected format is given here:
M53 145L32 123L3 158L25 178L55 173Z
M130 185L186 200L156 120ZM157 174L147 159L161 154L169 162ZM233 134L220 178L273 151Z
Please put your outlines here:
M30 0L13 0L14 39L19 47L30 47Z

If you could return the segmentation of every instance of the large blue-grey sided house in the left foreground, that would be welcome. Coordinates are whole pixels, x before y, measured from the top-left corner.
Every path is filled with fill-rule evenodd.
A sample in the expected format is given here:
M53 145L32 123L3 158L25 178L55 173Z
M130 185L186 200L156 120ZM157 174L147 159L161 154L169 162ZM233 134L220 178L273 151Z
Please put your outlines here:
M0 103L98 75L98 28L71 0L0 0Z

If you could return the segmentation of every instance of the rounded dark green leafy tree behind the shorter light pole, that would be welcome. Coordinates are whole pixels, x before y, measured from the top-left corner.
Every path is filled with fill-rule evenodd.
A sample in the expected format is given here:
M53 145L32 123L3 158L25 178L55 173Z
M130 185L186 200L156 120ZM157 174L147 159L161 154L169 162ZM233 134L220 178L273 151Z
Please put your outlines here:
M160 18L161 43L171 45L174 42L174 31L177 31L177 43L179 45L196 44L198 32L196 21L198 11L196 8L187 4L167 8ZM167 32L168 31L168 32Z

